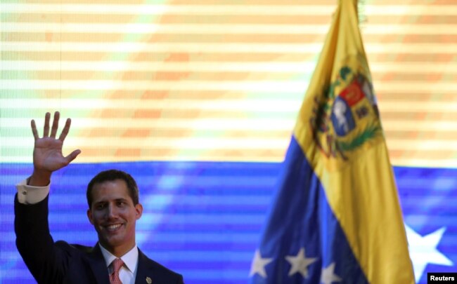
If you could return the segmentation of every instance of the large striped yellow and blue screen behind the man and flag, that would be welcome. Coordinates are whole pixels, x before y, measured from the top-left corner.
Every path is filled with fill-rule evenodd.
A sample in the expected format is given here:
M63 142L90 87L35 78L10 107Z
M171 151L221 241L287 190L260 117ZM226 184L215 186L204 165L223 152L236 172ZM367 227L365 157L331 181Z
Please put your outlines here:
M86 183L122 168L146 205L140 248L186 283L247 282L336 0L0 5L0 282L33 282L13 184L32 170L30 119L55 110L73 120L64 151L82 154L53 177L54 238L95 243ZM416 275L457 271L457 6L367 0L360 12L408 237L425 243Z

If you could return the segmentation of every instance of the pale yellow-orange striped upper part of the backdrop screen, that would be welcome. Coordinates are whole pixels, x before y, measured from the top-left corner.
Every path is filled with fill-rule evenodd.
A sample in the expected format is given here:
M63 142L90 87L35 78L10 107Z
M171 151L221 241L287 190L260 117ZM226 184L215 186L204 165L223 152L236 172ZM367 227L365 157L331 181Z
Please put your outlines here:
M336 7L0 5L0 140L15 162L30 161L30 119L56 109L73 119L68 145L82 148L79 162L282 161ZM456 4L371 0L359 11L392 163L455 167Z

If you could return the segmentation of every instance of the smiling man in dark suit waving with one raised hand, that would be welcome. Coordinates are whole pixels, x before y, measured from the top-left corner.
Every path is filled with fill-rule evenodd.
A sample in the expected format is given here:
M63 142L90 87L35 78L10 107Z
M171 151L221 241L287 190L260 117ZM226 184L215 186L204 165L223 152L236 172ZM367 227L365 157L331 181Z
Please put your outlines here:
M51 134L46 113L43 137L32 120L32 176L18 184L15 197L16 245L38 283L181 284L183 278L146 257L136 247L135 224L143 207L135 180L119 170L96 175L87 187L87 217L98 234L94 248L54 242L49 233L48 195L51 174L64 168L81 151L63 156L70 119L56 139L60 114L54 114Z

